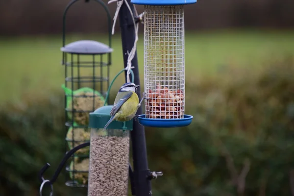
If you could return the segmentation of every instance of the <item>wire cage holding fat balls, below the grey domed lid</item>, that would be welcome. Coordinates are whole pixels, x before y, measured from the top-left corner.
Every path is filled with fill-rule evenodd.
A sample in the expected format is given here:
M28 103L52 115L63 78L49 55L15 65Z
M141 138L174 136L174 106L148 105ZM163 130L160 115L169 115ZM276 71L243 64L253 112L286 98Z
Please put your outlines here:
M65 54L65 86L71 93L65 96L65 150L90 141L90 129L85 121L88 113L102 106L104 99L97 102L99 97L92 92L79 89L89 87L97 90L103 98L109 86L109 66L103 62L102 55ZM107 69L105 74L105 68ZM106 84L105 84L106 83ZM78 92L79 91L79 92ZM71 97L71 101L67 98ZM69 135L68 135L69 134ZM72 155L66 171L69 173L66 185L72 187L87 187L89 168L89 147L79 149Z

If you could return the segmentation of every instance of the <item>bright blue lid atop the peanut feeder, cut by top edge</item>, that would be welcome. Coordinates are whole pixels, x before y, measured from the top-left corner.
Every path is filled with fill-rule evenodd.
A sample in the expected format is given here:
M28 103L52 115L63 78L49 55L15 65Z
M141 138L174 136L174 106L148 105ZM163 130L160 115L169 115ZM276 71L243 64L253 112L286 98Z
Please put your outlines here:
M139 5L184 5L196 2L197 0L131 0L131 3Z

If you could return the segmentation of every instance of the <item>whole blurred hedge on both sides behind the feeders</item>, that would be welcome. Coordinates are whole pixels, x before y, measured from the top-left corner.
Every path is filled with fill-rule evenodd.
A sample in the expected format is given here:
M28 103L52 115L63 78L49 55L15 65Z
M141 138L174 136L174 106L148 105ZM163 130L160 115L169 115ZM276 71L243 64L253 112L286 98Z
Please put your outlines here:
M114 92L115 94L115 92ZM55 96L53 96L55 95ZM186 83L188 127L146 128L154 196L289 196L294 170L294 61L263 70L227 67L217 77ZM31 101L29 101L31 99ZM113 100L111 100L113 101ZM0 190L37 196L37 172L52 176L64 154L63 96L28 95L0 111ZM294 188L294 187L293 187ZM86 191L54 184L56 196Z

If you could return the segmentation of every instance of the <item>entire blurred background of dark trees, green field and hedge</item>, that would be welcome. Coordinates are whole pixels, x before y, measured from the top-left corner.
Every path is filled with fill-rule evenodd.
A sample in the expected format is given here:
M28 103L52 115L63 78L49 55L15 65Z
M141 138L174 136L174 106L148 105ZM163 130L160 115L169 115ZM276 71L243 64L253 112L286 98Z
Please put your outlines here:
M39 170L50 163L51 177L64 156L60 47L67 3L0 1L0 196L37 196ZM89 20L102 10L87 7L81 2L70 12L67 43L107 44L105 22ZM146 127L149 168L164 173L152 181L154 196L294 196L293 7L290 0L187 6L185 111L194 120L183 128ZM116 5L109 8L113 17ZM111 79L123 68L118 25L112 48ZM111 103L123 79L114 83ZM55 196L87 195L65 186L65 178L54 183Z

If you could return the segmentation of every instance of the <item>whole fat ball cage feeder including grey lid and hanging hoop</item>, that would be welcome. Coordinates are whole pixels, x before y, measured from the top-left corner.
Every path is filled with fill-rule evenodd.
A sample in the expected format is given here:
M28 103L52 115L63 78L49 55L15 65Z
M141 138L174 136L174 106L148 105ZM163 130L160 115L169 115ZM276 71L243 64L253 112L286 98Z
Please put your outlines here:
M65 66L65 142L66 153L90 141L89 114L104 105L109 87L111 65L111 17L107 6L101 0L93 0L107 12L109 46L94 40L78 40L65 45L65 19L68 9L78 0L72 0L63 15L62 64ZM86 0L88 2L88 0ZM107 57L103 58L104 55ZM109 100L107 100L108 102ZM65 184L71 187L87 187L89 168L89 146L72 155L66 167Z

